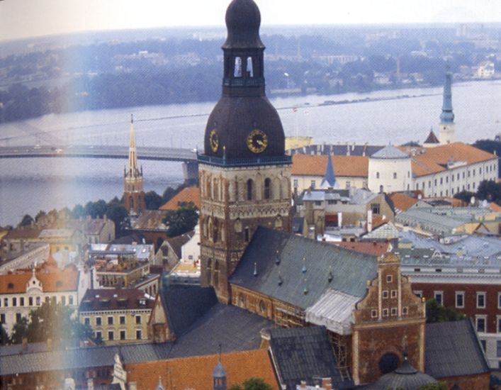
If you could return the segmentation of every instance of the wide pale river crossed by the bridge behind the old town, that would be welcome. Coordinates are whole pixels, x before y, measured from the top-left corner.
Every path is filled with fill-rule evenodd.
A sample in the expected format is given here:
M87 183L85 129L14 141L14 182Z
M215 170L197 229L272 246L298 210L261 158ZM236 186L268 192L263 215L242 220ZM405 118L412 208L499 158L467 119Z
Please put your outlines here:
M399 97L400 96L400 97ZM364 99L388 99L368 100ZM501 81L454 84L456 140L474 142L501 132ZM354 101L322 105L325 101ZM373 91L335 96L272 99L286 135L310 135L315 143L395 145L422 142L441 112L441 88ZM0 146L128 145L130 113L137 147L203 147L215 102L50 114L0 126ZM297 109L293 109L296 107ZM139 156L140 157L140 156ZM176 162L140 162L145 191L162 194L183 181ZM33 158L0 160L0 226L24 214L121 196L125 160Z

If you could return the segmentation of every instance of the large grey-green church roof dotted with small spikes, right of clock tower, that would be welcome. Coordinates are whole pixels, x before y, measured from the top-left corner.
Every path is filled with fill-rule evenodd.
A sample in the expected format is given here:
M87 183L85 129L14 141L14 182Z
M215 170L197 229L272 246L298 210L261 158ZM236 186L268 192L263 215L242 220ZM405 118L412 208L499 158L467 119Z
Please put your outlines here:
M254 264L257 276L254 276ZM328 288L365 296L366 282L376 277L376 271L374 256L259 227L230 283L299 308L308 308ZM279 279L281 284L278 284Z

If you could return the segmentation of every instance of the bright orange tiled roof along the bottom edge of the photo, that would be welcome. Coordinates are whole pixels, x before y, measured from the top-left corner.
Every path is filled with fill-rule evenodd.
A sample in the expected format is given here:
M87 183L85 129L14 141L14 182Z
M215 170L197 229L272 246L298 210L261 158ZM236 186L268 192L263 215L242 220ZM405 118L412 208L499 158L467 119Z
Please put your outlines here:
M227 373L227 388L258 377L278 390L275 373L267 350L232 352L221 355ZM185 357L147 363L130 363L127 381L135 381L137 389L154 390L162 377L166 389L212 389L213 369L218 355Z

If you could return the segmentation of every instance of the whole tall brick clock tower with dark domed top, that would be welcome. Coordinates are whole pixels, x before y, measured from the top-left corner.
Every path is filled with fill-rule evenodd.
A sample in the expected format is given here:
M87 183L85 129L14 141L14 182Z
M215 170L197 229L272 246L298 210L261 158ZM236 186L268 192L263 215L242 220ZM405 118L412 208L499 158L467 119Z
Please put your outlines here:
M291 230L291 157L265 94L261 16L252 0L226 11L223 94L208 118L201 189L201 283L230 301L228 278L258 225Z

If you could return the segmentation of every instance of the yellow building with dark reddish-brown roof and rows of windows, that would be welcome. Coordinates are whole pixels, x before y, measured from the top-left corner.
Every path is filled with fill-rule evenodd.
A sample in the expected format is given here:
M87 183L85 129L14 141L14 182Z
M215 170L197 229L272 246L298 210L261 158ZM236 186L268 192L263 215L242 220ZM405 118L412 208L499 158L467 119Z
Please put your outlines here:
M106 345L146 342L153 305L154 299L139 289L88 289L79 319Z

